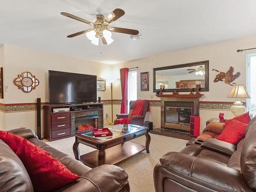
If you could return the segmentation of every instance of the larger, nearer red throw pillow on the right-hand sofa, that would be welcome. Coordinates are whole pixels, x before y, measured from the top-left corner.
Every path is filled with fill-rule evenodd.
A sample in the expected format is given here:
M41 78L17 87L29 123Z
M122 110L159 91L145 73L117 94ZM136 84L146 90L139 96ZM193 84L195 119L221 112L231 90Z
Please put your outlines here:
M237 144L245 136L247 125L246 123L232 120L216 139Z

